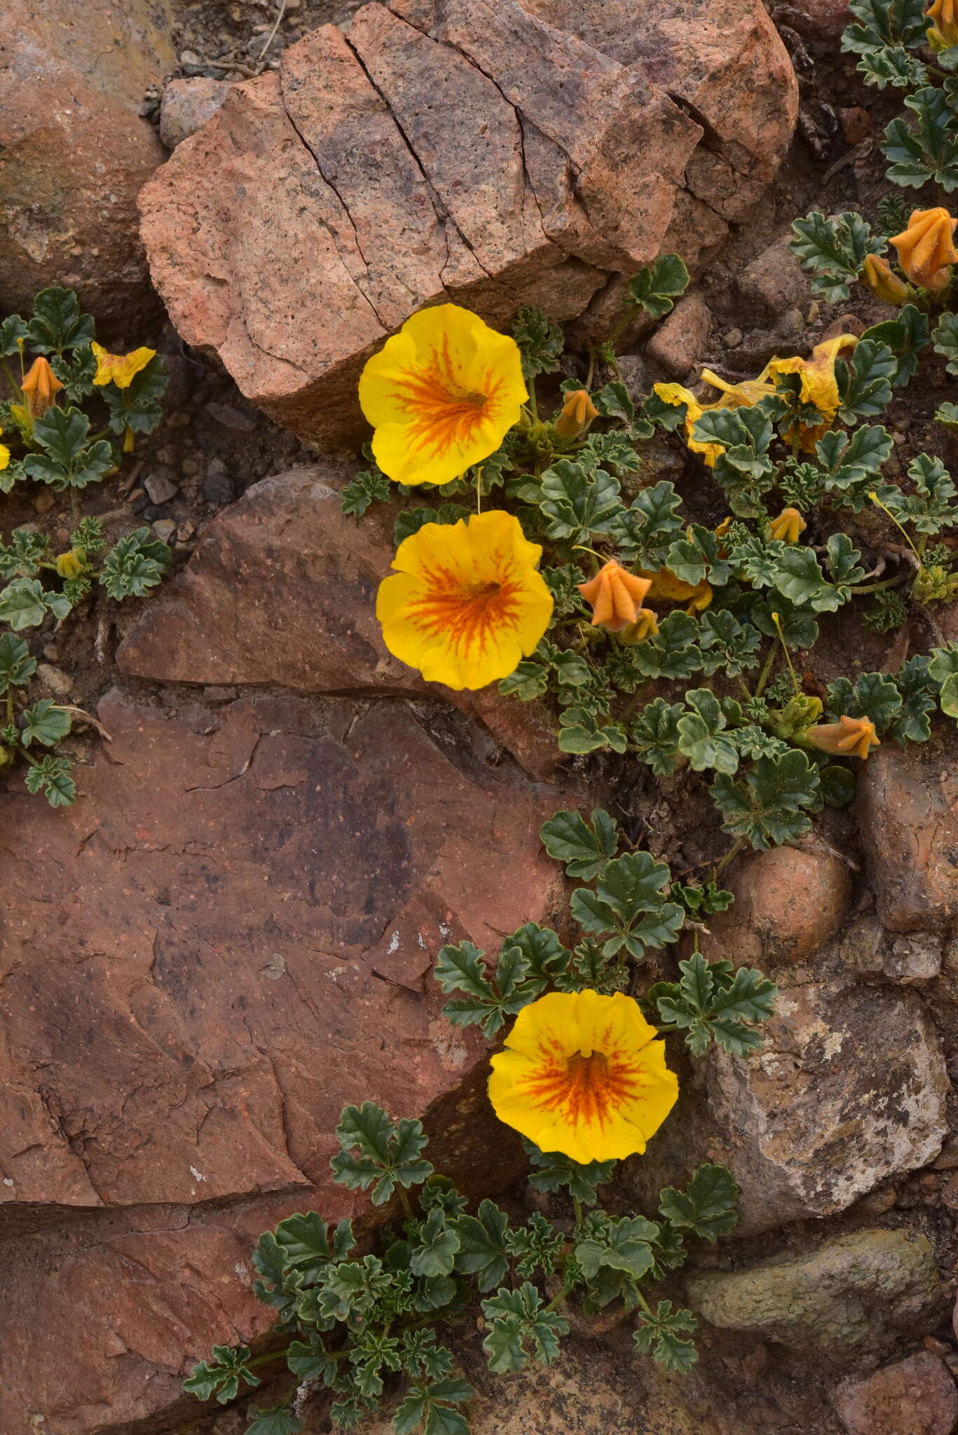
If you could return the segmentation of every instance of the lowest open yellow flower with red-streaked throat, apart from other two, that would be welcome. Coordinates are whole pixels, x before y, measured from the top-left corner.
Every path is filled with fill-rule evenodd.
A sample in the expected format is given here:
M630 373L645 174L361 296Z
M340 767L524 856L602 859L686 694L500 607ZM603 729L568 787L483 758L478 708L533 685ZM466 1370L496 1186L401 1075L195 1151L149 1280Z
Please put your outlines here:
M524 1006L493 1056L488 1095L507 1126L583 1165L645 1151L678 1096L638 1002L559 992Z

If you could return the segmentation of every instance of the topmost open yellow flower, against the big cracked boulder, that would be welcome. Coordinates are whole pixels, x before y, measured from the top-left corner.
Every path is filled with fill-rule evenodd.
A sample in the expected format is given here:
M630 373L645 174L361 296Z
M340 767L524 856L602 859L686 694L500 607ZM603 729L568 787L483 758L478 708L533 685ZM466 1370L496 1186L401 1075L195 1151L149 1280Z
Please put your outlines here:
M518 344L458 304L406 319L359 379L372 452L398 484L450 484L488 458L529 397Z

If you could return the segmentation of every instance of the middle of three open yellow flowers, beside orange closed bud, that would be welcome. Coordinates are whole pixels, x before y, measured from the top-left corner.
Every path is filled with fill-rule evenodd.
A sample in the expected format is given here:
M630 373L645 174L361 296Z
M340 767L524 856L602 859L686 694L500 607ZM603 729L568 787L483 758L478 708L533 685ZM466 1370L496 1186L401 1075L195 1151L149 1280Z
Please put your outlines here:
M379 584L386 647L428 682L457 690L507 677L552 617L540 557L539 544L501 509L425 524L399 544L398 571Z

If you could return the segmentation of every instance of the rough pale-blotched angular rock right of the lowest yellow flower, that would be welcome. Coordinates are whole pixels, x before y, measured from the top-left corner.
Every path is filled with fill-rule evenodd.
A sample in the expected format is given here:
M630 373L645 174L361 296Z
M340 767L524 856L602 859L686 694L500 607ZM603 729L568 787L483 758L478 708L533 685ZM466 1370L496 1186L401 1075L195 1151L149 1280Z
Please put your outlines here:
M915 993L820 982L789 987L748 1060L707 1079L720 1159L738 1180L740 1234L843 1211L941 1149L949 1089Z

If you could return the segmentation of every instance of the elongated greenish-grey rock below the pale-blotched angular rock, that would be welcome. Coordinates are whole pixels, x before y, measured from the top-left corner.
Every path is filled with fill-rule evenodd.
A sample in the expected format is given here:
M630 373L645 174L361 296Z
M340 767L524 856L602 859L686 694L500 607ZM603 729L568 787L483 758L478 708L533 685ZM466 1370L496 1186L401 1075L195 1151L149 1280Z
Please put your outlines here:
M945 1304L934 1247L912 1231L856 1231L807 1256L692 1276L687 1290L712 1326L826 1352L876 1349Z

